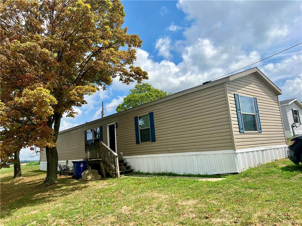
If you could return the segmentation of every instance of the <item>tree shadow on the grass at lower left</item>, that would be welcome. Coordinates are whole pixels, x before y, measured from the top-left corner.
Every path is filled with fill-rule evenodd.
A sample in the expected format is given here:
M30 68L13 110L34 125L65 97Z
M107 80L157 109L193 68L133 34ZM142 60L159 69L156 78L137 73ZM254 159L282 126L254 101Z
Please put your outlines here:
M43 171L27 171L22 177L11 179L10 176L9 180L5 181L3 179L8 178L1 178L1 218L10 217L16 209L52 202L58 197L72 194L85 184L82 181L73 180L71 176L58 175L57 184L44 185L46 174L41 174L41 172Z

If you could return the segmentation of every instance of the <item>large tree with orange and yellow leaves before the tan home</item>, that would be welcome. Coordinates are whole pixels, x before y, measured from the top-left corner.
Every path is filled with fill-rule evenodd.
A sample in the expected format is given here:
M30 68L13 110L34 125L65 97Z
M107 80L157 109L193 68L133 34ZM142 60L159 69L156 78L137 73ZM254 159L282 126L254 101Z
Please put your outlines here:
M74 117L73 106L86 104L85 95L105 89L115 77L126 84L148 79L133 66L135 48L142 41L122 27L125 12L120 1L1 1L0 11L1 89L43 87L56 100L50 104L53 113L46 125L52 132L45 143L44 183L53 184L63 114Z

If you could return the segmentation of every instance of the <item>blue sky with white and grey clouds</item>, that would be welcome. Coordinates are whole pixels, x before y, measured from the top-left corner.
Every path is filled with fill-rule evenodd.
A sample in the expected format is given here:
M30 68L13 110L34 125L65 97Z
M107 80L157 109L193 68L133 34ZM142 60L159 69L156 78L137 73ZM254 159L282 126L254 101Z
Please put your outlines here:
M178 92L245 67L302 42L301 1L122 1L124 26L143 40L136 66L145 81ZM302 100L302 45L252 67L258 67L280 89L280 100ZM248 68L246 68L248 69ZM60 130L115 113L129 86L114 79L106 91L86 96L76 118L62 119ZM21 160L31 158L23 149Z

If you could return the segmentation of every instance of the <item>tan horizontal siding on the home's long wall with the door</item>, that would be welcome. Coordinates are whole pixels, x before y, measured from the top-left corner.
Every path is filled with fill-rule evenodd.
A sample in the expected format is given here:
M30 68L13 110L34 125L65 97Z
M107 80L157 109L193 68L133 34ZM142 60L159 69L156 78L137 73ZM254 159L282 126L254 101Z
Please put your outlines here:
M153 111L156 142L136 144L134 117ZM224 84L177 96L153 105L130 109L59 133L59 160L85 158L84 131L117 121L117 153L147 155L233 150ZM46 158L41 157L41 161Z

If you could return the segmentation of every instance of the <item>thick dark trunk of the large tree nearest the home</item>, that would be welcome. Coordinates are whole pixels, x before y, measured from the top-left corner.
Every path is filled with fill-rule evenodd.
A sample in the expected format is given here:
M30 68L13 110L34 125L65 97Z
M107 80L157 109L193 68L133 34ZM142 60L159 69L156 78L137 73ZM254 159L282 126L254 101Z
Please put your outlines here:
M53 118L49 120L48 126L54 129L54 142L58 139L58 133L61 122L61 114L54 114ZM55 184L57 182L57 173L58 173L58 152L56 147L46 147L46 160L47 160L47 174L44 184Z

